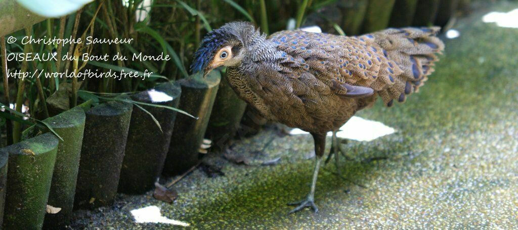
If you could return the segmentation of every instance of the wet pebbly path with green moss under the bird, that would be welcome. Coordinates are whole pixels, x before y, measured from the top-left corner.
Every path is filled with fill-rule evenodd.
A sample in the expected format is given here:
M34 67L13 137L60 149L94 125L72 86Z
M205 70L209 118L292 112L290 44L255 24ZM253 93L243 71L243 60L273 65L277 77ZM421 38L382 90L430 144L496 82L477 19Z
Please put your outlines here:
M381 103L358 116L398 132L370 142L350 141L337 179L324 166L316 186L320 211L292 215L285 204L308 192L313 141L308 135L276 137L267 130L238 141L233 150L257 159L281 157L274 166L235 165L213 157L225 176L200 170L181 180L179 198L167 204L144 196L120 196L117 204L78 213L75 225L125 229L168 229L137 224L130 211L156 205L167 218L192 228L507 228L518 227L518 29L483 23L487 11L507 12L500 3L462 19L456 39L436 72L405 104ZM329 146L329 145L328 145ZM373 156L386 160L366 161ZM254 163L255 161L253 161Z

